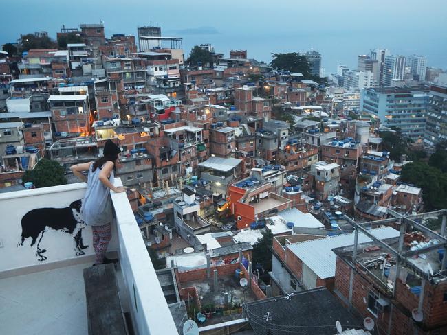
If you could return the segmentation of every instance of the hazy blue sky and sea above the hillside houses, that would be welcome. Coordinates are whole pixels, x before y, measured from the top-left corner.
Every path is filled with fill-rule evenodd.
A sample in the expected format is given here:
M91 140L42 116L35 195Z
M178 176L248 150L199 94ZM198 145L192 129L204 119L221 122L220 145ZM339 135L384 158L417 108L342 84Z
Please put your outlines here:
M102 19L107 36L158 24L163 35L184 38L186 53L212 43L225 54L248 49L249 58L270 62L272 52L313 48L326 74L338 64L356 67L357 55L376 47L423 54L429 66L447 68L445 0L14 0L1 8L0 44Z

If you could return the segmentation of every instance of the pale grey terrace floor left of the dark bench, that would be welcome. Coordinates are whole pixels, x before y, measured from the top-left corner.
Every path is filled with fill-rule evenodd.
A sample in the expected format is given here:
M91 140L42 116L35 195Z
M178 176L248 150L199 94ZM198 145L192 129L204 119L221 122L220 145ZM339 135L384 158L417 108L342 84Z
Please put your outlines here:
M1 334L88 334L83 278L88 266L0 279Z

